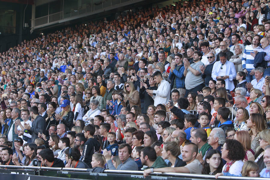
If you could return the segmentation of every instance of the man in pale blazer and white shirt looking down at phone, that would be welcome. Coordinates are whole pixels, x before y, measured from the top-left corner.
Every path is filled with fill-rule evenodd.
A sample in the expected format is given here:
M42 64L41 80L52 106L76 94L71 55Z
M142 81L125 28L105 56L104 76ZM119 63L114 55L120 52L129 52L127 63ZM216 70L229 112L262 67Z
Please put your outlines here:
M227 61L227 54L225 52L220 52L219 57L220 61L214 63L211 76L214 80L224 79L226 89L232 91L234 89L232 79L236 76L235 66L232 62Z

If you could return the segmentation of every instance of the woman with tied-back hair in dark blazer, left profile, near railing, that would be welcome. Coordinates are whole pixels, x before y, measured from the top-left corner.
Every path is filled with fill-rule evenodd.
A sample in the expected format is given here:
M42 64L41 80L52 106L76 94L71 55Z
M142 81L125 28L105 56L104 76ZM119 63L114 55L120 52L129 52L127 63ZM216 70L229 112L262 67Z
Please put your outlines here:
M167 167L183 167L186 165L186 163L178 157L181 151L178 144L174 141L164 143L161 153L163 159L169 160Z

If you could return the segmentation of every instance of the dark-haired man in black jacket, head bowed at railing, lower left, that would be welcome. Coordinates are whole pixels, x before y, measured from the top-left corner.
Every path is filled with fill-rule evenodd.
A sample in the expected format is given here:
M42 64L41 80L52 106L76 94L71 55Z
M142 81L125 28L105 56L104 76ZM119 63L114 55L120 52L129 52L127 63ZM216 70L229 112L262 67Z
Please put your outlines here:
M41 160L41 167L65 167L61 159L55 158L51 149L43 149L38 153Z

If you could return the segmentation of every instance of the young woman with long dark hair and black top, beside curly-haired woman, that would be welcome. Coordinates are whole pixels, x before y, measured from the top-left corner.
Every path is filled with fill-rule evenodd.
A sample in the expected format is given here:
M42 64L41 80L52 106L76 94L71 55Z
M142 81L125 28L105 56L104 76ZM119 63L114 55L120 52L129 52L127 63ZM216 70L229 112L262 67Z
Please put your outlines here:
M221 153L216 149L209 150L202 163L202 174L215 175L221 173L222 167Z

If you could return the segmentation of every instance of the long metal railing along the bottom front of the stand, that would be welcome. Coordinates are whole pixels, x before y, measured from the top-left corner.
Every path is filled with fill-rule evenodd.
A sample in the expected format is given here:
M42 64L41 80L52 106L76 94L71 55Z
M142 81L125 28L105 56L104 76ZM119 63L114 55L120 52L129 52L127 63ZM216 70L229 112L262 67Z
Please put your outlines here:
M134 179L135 176L133 175L138 175L136 176L136 179L144 179L143 177L143 171L127 171L127 170L104 170L103 173L91 173L91 169L79 169L79 168L53 168L53 167L29 167L29 166L9 166L9 165L0 165L0 168L6 168L7 170L11 170L14 173L19 174L19 170L35 170L35 171L56 171L58 175L64 174L77 174L79 175L80 173L89 173L88 175L91 176L96 176L98 179L99 175L100 177L104 177L102 174L117 174L117 178L128 178L125 175L131 175L130 178ZM0 169L1 170L1 169ZM16 172L18 171L18 172ZM38 174L40 175L40 173ZM106 175L106 176L107 176ZM165 178L162 178L162 177ZM61 177L61 176L60 176ZM188 174L188 173L158 173L154 172L151 173L149 176L149 179L167 179L167 177L172 177L172 179L215 179L214 175L202 175L202 174ZM49 177L47 177L49 179ZM128 178L129 179L129 178ZM218 179L235 179L235 180L250 180L250 177L236 177L236 176L219 176ZM252 178L253 180L269 180L269 178Z

